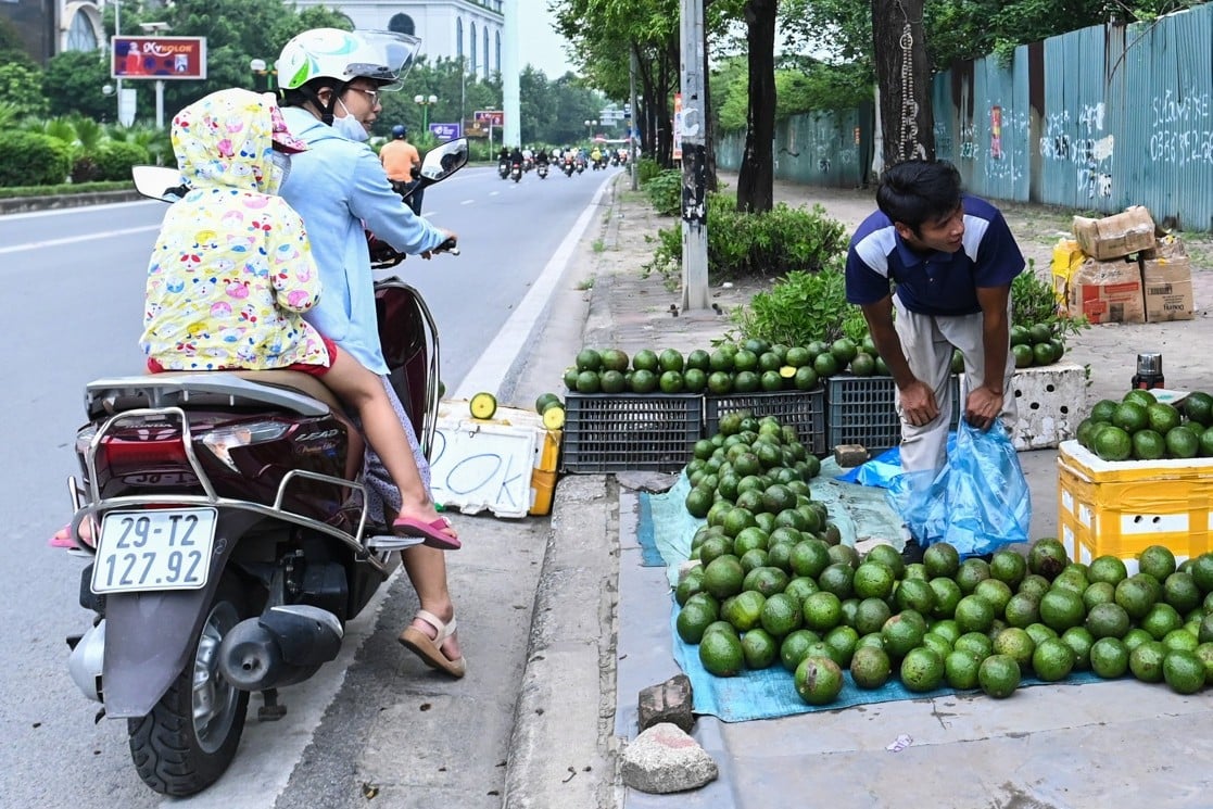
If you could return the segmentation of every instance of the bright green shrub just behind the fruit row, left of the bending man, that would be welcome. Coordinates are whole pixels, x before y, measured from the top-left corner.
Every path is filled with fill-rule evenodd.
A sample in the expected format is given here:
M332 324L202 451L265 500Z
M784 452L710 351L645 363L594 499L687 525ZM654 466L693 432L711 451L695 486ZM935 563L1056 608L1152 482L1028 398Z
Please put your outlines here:
M746 337L785 346L860 338L867 324L859 307L847 303L843 261L838 253L820 272L788 273L770 290L754 295L748 307L735 309L733 323Z

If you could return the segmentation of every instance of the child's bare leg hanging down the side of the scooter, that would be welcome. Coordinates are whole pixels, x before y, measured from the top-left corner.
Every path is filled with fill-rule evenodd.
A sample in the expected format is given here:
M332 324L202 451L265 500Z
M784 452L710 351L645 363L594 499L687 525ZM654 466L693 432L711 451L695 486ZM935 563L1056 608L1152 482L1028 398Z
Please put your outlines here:
M338 348L329 372L320 380L343 401L358 410L366 440L383 461L385 468L400 490L400 515L412 517L422 523L440 519L421 480L417 463L412 458L409 438L395 416L380 377L344 349ZM455 529L449 526L443 532L452 539L456 536Z

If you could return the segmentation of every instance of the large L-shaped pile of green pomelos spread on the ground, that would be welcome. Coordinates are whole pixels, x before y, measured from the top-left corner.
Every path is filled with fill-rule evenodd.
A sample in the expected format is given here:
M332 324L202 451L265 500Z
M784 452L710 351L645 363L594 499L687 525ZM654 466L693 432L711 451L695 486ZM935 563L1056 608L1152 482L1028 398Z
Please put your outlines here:
M711 674L782 666L810 705L836 700L844 671L860 689L900 677L915 693L995 697L1025 676L1088 670L1180 694L1213 682L1213 553L1177 565L1151 546L1133 575L1112 556L1071 562L1055 539L990 562L947 543L916 564L892 545L860 557L811 498L818 469L797 469L793 437L773 417L729 416L687 467L687 508L706 524L674 591L678 636Z

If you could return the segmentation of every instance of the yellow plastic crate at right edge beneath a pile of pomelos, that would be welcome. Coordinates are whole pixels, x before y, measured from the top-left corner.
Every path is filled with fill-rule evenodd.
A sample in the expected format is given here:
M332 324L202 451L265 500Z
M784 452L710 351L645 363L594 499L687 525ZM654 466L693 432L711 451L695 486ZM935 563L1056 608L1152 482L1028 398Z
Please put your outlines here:
M1076 562L1111 554L1131 572L1151 545L1177 559L1213 549L1213 458L1110 462L1063 441L1058 539Z

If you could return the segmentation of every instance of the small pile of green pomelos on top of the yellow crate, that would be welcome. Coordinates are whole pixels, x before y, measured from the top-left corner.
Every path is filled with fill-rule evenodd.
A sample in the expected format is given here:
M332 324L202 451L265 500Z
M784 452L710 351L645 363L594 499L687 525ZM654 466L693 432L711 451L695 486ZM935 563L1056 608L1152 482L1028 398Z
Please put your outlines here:
M1104 461L1213 457L1213 395L1196 391L1178 406L1140 389L1101 399L1076 438Z

